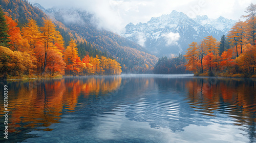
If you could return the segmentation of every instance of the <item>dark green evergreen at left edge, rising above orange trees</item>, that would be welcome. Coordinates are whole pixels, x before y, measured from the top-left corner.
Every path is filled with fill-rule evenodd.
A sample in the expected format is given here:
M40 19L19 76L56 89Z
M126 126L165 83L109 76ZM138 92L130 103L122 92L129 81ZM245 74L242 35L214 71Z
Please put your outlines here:
M8 42L10 42L10 35L7 34L8 27L6 24L6 19L4 17L4 12L0 8L0 46L9 46Z

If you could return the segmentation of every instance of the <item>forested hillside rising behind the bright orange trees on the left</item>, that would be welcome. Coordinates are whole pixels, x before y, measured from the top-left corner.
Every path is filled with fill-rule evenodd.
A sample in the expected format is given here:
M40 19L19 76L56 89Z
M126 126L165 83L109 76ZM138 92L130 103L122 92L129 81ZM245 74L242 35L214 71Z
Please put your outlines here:
M63 18L61 18L63 15L59 15L60 12L49 15L26 0L0 1L0 7L5 15L17 23L16 27L20 30L31 18L36 21L38 27L43 27L44 19L50 18L56 26L55 30L59 31L63 38L64 49L69 45L71 39L76 41L81 61L86 55L94 58L98 55L99 58L104 56L112 60L115 59L120 63L122 73L124 74L152 73L157 62L158 58L148 54L144 47L110 31L97 29L95 25L90 23L87 13L82 11L76 11L84 20L83 25L80 25L79 23L65 23Z

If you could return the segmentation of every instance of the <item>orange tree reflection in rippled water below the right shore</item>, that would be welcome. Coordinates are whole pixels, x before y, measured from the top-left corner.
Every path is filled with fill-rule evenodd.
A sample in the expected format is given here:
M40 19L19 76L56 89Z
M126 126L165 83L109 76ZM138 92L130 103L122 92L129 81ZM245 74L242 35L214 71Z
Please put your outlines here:
M233 125L255 140L256 80L242 78L195 78L186 83L191 108L203 115L231 117Z

